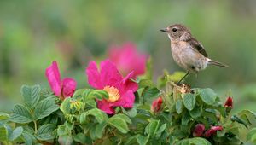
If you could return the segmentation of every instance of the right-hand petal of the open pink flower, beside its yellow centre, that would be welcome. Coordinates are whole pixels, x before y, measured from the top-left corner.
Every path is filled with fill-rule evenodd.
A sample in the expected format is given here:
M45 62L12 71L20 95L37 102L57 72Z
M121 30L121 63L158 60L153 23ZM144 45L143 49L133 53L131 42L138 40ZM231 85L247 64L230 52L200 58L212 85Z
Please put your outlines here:
M113 106L115 107L125 107L125 108L131 108L133 107L135 101L135 96L133 94L132 90L128 90L125 92L125 94L121 94L121 97L119 98L119 101L114 102Z

